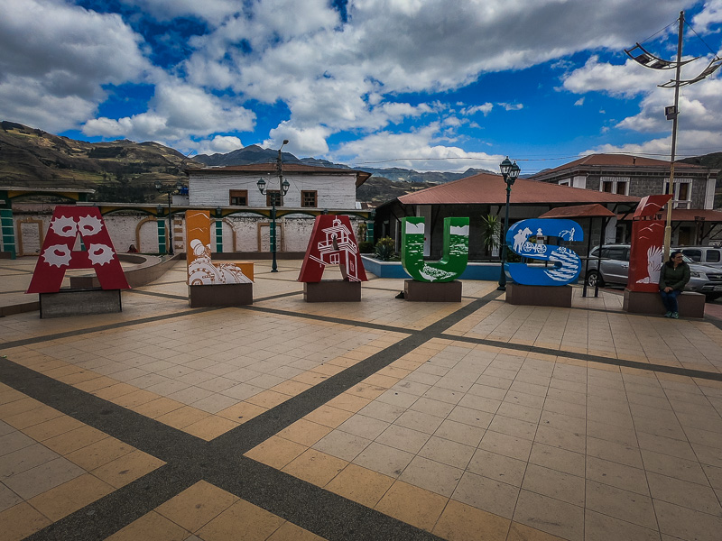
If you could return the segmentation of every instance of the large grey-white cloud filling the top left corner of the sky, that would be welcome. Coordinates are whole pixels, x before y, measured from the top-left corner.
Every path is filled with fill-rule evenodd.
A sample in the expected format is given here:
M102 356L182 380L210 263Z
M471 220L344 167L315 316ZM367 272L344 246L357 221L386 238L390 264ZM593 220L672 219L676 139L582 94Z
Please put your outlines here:
M3 0L0 117L63 131L85 121L103 85L140 82L154 69L143 39L116 14L60 0Z

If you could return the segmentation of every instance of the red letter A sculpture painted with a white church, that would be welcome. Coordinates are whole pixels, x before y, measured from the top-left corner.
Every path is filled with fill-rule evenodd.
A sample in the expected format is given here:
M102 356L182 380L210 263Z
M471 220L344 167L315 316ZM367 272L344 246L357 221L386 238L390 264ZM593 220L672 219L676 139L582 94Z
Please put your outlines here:
M326 265L340 266L344 280L356 282L368 280L348 216L316 216L309 247L301 265L299 281L321 281Z

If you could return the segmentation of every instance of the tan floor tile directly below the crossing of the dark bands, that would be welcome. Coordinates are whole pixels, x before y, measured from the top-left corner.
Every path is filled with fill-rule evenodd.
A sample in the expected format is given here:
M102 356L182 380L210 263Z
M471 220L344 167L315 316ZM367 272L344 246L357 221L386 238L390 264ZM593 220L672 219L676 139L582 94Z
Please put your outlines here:
M196 532L237 500L233 494L199 481L155 510L188 531Z

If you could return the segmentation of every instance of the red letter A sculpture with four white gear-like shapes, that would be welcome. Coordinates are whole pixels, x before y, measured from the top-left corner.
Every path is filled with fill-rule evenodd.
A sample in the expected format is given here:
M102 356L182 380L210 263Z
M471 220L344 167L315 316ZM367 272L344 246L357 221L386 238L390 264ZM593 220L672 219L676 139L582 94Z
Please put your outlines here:
M80 235L88 252L73 251ZM102 289L130 289L95 206L56 206L26 293L57 293L65 271L93 269Z

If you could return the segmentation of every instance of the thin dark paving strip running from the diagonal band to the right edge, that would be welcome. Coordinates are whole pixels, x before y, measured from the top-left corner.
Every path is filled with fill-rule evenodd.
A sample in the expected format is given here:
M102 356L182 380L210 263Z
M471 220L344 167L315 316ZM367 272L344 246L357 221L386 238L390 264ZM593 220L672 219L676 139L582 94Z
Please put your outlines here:
M448 340L458 340L459 342L468 342L469 344L484 344L494 347L503 347L504 349L514 350L517 352L533 352L543 353L547 355L555 355L557 357L565 357L568 359L579 359L581 361L601 362L612 366L625 366L627 368L636 368L646 371L659 371L668 374L676 374L678 376L688 376L690 378L699 378L700 380L722 381L722 373L703 370L694 370L690 368L680 368L679 366L668 366L666 364L654 364L651 362L628 361L626 359L614 359L612 357L602 357L601 355L592 355L589 353L572 353L564 350L551 349L549 347L539 347L535 345L513 344L511 342L502 342L500 340L487 340L486 338L470 338L467 336L457 335L440 335L440 338Z

